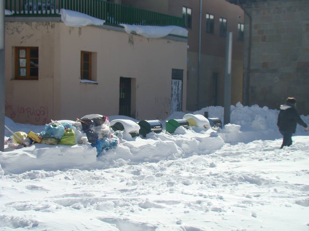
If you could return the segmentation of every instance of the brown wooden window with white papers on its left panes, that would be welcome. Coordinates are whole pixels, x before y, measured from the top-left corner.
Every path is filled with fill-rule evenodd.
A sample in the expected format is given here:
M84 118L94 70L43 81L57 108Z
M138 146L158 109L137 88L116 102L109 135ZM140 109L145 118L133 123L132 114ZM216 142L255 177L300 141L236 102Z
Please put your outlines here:
M15 47L15 79L39 79L39 47Z

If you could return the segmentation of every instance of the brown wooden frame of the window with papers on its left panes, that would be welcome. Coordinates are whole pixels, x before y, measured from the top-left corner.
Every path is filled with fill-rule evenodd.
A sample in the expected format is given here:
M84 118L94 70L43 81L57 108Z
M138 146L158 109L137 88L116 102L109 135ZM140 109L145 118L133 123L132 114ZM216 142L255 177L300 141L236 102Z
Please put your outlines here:
M21 79L21 80L38 80L39 79L39 70L38 70L38 76L30 76L30 69L31 68L37 68L39 67L30 67L30 50L39 50L39 47L15 47L15 79ZM18 64L19 64L19 57L18 57L18 51L19 50L26 50L26 76L19 76L18 75ZM39 52L39 51L38 51ZM39 59L39 57L32 57L31 59Z

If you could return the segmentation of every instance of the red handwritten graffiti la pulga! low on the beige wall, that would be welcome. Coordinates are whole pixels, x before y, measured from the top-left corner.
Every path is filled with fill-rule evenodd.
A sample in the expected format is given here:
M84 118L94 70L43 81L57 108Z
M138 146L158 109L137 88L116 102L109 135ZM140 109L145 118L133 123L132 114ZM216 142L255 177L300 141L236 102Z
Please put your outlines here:
M26 116L25 122L29 120L35 120L36 122L42 122L46 124L48 122L48 107L22 107L20 105L12 105L5 101L6 115L11 119L16 116ZM28 119L27 119L28 118Z

